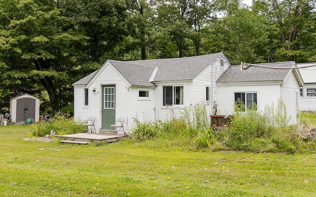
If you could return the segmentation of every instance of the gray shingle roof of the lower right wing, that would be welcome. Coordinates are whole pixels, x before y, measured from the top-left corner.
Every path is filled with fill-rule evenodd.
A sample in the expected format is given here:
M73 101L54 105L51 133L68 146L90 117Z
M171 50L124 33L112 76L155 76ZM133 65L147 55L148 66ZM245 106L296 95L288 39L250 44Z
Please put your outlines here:
M256 64L274 67L293 67L295 62L277 62ZM255 82L255 81L282 81L291 69L271 69L250 66L245 70L240 70L240 66L231 66L218 78L216 83L228 82Z

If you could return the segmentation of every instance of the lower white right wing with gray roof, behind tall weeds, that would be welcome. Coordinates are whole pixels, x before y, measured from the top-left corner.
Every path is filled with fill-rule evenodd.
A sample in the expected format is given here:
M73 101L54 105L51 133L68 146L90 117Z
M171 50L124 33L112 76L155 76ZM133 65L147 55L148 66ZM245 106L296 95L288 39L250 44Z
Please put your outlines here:
M295 62L258 64L270 67L297 67ZM297 123L299 88L304 85L298 69L271 69L251 66L240 70L230 66L216 81L218 111L231 114L235 101L241 99L246 107L257 104L260 111L266 105L277 104L281 97L287 107L289 124Z

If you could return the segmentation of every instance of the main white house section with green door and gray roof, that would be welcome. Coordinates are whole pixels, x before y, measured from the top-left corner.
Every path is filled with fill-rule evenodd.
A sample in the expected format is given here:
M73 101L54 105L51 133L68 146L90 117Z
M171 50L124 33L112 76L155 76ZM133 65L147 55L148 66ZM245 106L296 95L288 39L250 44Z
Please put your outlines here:
M142 60L108 60L100 69L73 84L75 119L96 118L99 130L110 130L124 118L125 131L133 118L165 120L170 112L204 102L209 114L217 101L215 81L230 66L223 53Z

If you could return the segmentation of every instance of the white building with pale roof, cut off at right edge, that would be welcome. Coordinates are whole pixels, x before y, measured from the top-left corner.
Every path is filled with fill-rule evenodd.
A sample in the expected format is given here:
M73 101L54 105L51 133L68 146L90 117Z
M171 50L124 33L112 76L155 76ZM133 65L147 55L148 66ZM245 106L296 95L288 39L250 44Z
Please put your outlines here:
M300 66L312 66L316 63L297 64ZM299 106L301 111L316 111L316 66L299 69L304 86L300 87Z

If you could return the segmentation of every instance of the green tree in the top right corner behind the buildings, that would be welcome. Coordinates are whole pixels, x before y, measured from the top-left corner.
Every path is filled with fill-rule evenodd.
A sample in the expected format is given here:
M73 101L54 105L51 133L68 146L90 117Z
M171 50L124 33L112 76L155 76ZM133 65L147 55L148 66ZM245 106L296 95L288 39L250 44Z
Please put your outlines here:
M315 55L315 0L263 0L254 2L254 11L277 25L283 46L277 51L279 61L306 62ZM313 44L315 45L315 44ZM308 49L308 50L306 50ZM312 60L312 59L310 59Z

